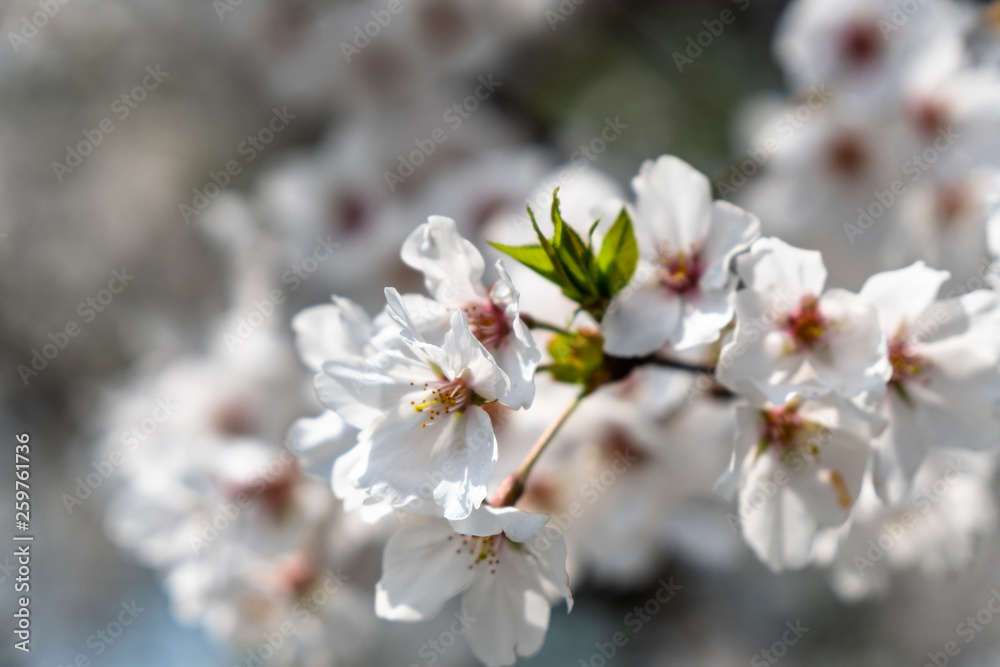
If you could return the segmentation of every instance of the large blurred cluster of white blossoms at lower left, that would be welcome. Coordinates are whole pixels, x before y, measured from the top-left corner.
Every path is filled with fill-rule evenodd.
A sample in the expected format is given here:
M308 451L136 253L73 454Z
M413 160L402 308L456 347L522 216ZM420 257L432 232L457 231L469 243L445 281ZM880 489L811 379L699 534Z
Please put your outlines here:
M180 621L248 664L353 659L375 631L356 563L377 532L280 446L309 408L303 380L280 335L262 331L240 354L217 340L143 369L104 417L95 470L114 487L109 536L162 575ZM92 491L64 494L67 510Z

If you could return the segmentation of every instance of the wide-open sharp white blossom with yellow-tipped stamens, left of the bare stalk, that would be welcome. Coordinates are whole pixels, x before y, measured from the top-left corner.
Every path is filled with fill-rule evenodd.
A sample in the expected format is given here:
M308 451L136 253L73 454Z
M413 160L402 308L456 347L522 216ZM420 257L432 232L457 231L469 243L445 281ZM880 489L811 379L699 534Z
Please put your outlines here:
M446 518L464 519L486 497L497 460L482 406L505 397L510 381L460 312L441 345L406 333L397 349L325 363L317 393L361 430L345 454L353 484L400 509L417 509L430 495Z

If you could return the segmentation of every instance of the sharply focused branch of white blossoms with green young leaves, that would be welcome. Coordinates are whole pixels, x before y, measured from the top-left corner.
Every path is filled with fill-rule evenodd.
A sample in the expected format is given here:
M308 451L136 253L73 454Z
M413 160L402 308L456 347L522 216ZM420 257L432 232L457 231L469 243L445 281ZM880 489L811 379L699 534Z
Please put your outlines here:
M334 459L334 492L380 507L368 510L373 517L421 517L386 547L376 612L423 620L464 591L463 608L490 619L467 635L490 665L536 651L549 600L571 600L562 533L543 532L547 517L517 504L524 496L537 506L532 495L544 504L535 462L577 403L604 385L699 370L681 354L714 358L701 372L737 399L735 448L718 488L738 494L742 534L775 570L839 553L827 535L847 530L863 489L898 506L925 460L938 462L932 453L988 449L1000 437L995 292L939 299L948 274L923 262L875 274L860 293L826 289L819 252L760 238L756 218L713 202L708 179L677 158L646 163L633 186L635 204L611 225L574 231L554 198L551 237L536 224L538 244L498 244L539 274L516 287L502 261L485 287L479 251L452 220L431 217L402 257L434 298L389 287L374 321L339 297L295 321L317 394L339 417L300 422L297 437L327 442L341 420L357 429ZM576 304L565 321L519 308L518 290L543 278ZM541 365L532 330L555 333ZM543 415L552 425L491 487L498 450L511 446L494 424L532 407L536 373L577 393L561 414ZM615 453L627 455L615 461L621 474L641 458L629 438L617 442Z

